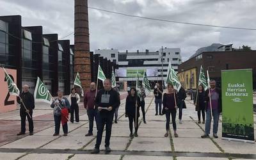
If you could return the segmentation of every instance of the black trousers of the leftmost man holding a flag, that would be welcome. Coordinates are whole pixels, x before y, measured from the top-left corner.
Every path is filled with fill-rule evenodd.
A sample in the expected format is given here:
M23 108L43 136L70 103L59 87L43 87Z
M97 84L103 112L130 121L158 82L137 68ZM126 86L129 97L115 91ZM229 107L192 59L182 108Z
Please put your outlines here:
M31 116L31 118L29 117L29 115ZM28 113L26 113L26 111L20 110L20 122L21 122L20 132L23 132L23 133L26 132L26 117L28 118L29 132L34 131L34 124L33 124L33 119L32 119L32 115L33 115L32 109L29 110L29 115L28 115Z

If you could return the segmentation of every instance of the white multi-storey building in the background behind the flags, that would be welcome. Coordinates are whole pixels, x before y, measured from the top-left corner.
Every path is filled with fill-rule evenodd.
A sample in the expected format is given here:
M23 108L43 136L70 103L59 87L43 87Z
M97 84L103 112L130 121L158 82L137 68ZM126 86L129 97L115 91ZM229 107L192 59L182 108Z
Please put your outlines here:
M179 48L165 47L155 52L150 52L148 49L143 52L139 50L137 52L118 52L117 49L97 49L95 53L111 58L113 63L118 64L118 70L115 70L116 77L120 83L125 83L124 86L135 85L137 70L141 81L143 72L146 70L148 80L151 81L152 85L162 83L162 81L166 81L169 63L177 71L178 65L182 62Z

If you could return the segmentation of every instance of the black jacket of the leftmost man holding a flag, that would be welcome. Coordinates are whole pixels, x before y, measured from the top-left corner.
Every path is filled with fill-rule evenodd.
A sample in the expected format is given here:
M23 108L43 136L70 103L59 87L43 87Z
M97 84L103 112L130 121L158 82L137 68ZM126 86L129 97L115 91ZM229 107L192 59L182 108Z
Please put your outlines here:
M29 111L32 111L32 109L35 109L34 95L32 95L30 92L20 93L20 98L23 100L23 103L25 104L26 108L29 109ZM20 102L20 98L18 97L17 99L17 102L20 104L20 111L26 111L23 104Z

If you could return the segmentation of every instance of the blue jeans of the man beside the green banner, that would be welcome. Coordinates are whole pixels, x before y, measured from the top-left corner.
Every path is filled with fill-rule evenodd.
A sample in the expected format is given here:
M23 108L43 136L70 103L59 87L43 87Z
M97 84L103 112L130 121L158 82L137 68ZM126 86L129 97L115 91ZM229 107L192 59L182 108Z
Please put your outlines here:
M220 113L219 113L218 109L212 109L212 116L213 116L213 134L217 134L219 118L220 118ZM212 120L211 109L207 109L206 121L205 121L205 134L210 134L211 120Z

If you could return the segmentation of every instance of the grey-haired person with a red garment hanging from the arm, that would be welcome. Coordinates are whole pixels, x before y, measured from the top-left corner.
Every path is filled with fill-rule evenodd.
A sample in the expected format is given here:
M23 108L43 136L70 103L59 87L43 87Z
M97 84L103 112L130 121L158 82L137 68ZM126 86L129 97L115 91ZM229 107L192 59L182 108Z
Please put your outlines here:
M70 104L66 97L63 97L63 92L58 91L58 97L54 99L51 104L53 108L55 132L53 136L59 136L60 134L60 122L62 124L63 136L68 135L68 109L70 109Z

